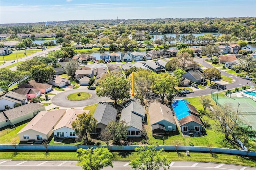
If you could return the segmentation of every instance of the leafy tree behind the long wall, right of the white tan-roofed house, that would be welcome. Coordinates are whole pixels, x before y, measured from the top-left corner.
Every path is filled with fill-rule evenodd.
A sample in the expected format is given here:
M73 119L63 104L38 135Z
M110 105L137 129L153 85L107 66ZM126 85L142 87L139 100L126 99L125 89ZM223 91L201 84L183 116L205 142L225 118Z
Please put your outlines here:
M89 133L95 130L97 120L92 115L83 113L77 115L78 119L72 122L72 128L76 132L76 136L81 139L82 144L87 144Z

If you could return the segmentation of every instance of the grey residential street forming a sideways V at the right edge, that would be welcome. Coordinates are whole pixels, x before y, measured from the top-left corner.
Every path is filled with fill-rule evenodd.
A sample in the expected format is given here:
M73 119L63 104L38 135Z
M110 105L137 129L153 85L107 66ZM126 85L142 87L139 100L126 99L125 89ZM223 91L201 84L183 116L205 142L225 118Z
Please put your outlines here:
M205 58L195 58L194 61L202 64L206 68L212 68L213 67L211 64L207 63L206 61L203 61L203 59L205 59ZM232 74L227 73L227 72L222 71L222 70L220 70L220 72L221 72L222 75L225 75L227 77L230 77L230 78L234 79L234 82L233 83L228 83L228 84L222 86L223 89L220 89L219 91L225 91L227 89L234 89L236 87L242 87L242 86L246 86L246 85L248 86L249 84L255 86L255 83L252 83L252 81L242 79L242 78L240 78L236 75L232 75ZM176 99L183 99L184 97L198 97L198 96L210 95L212 92L217 92L217 91L218 91L217 89L211 89L211 88L208 87L206 89L194 91L193 93L187 94L186 96L176 97Z

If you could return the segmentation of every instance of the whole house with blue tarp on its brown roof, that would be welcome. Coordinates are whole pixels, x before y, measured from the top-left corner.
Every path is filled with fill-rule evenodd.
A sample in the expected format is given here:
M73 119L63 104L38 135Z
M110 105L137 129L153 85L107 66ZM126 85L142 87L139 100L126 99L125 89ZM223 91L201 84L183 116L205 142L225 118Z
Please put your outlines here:
M186 100L177 100L172 103L176 119L181 132L201 132L203 123L199 119L198 111Z

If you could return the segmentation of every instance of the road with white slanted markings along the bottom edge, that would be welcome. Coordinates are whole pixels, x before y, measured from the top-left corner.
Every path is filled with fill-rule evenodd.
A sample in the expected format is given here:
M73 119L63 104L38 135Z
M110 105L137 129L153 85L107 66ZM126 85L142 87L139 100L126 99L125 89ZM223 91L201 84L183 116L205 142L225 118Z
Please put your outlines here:
M103 170L131 170L128 161L113 162L114 168L106 167ZM76 161L18 161L18 160L0 160L1 170L81 170L76 166ZM163 169L163 168L162 168ZM161 170L162 170L161 169ZM206 162L172 162L171 170L256 170L248 166L238 166L220 163Z

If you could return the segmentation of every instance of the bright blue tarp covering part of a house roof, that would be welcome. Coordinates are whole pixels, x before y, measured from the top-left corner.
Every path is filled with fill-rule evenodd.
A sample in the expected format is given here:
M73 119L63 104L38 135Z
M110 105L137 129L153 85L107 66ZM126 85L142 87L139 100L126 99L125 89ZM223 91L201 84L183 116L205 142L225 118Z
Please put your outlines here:
M190 110L186 103L189 102L186 100L177 100L172 103L172 108L174 109L175 115L178 120L190 116L190 113L188 112Z

